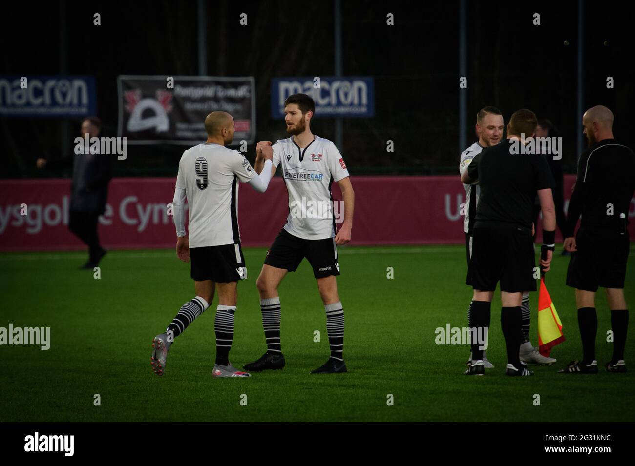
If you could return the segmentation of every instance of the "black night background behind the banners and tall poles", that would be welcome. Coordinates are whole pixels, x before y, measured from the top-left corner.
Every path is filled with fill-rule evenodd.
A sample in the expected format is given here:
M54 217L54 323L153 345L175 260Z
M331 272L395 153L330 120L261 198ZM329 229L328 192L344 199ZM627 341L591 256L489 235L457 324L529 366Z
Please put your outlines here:
M375 78L375 117L345 119L340 148L351 174L457 174L459 2L342 1L343 74ZM208 2L208 75L253 75L257 140L286 137L271 119L272 77L334 75L333 1ZM549 118L564 138L565 171L575 172L577 1L467 2L468 145L476 112L495 105L505 124L514 110ZM584 2L584 105L615 114L617 139L635 146L630 2ZM101 25L93 25L93 13ZM240 14L248 25L239 24ZM386 25L387 13L394 25ZM534 26L533 13L541 25ZM60 34L65 21L66 36ZM0 74L81 74L97 80L97 115L106 134L117 126L119 74L197 75L196 1L3 4ZM568 41L565 46L564 41ZM608 44L605 45L605 41ZM65 47L64 47L65 42ZM66 54L65 67L62 56ZM606 77L615 88L606 89ZM312 131L335 139L335 120L315 119ZM37 157L59 159L64 120L0 118L2 178L59 176L37 171ZM103 135L103 134L102 134ZM394 141L387 153L386 141ZM115 176L175 176L185 146L128 146ZM253 162L253 146L246 153Z

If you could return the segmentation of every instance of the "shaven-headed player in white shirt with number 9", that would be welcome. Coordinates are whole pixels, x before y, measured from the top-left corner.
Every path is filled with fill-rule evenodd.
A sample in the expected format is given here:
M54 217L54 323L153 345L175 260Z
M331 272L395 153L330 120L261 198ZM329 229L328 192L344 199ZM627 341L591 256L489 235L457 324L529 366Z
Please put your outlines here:
M196 296L178 311L165 333L152 340L152 370L163 375L174 339L210 306L218 289L214 320L216 361L213 377L250 377L229 362L234 339L237 282L247 278L238 230L238 181L264 193L272 176L273 150L260 155L266 170L255 173L237 150L225 147L234 139L234 119L226 112L211 112L205 119L206 143L189 148L178 164L173 212L177 227L177 256L190 262ZM262 164L262 162L261 162ZM185 209L189 204L189 236L185 233Z

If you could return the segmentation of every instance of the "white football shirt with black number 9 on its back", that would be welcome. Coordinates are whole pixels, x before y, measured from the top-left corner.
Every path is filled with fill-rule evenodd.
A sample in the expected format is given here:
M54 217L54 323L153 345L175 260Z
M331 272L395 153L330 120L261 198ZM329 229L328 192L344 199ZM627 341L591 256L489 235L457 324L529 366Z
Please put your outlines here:
M190 248L240 242L238 180L247 183L254 174L243 154L218 144L199 144L183 153L177 188L185 190L189 204Z

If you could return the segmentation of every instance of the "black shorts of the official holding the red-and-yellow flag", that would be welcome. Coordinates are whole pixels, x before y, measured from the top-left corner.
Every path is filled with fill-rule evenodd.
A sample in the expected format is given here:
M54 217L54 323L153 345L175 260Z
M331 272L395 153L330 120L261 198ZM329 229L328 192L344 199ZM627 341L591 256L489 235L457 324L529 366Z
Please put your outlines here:
M536 290L531 230L514 224L476 222L466 285L475 290L518 293Z

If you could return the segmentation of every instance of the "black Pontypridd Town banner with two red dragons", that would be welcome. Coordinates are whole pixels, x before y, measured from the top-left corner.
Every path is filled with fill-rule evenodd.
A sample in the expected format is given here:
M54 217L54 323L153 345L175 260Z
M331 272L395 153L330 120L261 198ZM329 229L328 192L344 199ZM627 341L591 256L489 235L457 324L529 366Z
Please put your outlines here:
M194 146L207 139L208 113L234 117L234 144L252 144L256 134L253 77L119 76L118 136L128 144Z

